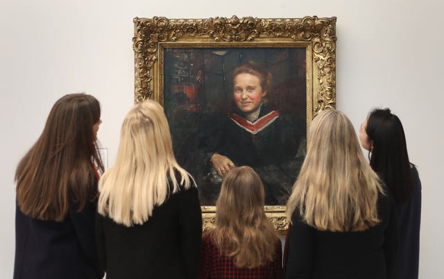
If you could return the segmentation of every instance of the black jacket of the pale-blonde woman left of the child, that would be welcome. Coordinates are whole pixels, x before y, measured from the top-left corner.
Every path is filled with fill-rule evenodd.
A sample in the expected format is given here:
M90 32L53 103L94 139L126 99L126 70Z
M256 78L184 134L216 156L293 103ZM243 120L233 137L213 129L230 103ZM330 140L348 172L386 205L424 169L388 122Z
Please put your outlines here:
M196 278L202 215L196 187L172 194L142 225L96 215L98 252L107 279Z

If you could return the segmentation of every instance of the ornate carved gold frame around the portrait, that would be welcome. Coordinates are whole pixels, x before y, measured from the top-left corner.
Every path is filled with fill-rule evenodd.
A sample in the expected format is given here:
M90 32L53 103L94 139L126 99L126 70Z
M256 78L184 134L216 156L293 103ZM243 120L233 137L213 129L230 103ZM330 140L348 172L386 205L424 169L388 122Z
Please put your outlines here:
M336 17L260 19L232 16L209 19L134 19L135 102L153 99L163 105L164 45L199 47L305 47L307 53L307 136L309 124L323 109L336 107ZM307 137L308 139L308 137ZM214 226L214 206L202 206L203 229ZM287 231L285 206L266 206L278 233Z

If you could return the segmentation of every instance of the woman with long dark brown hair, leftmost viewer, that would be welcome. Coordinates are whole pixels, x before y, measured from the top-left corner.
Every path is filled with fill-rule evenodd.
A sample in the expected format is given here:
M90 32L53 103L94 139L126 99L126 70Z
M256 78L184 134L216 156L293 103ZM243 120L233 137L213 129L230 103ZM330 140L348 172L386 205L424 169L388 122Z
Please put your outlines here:
M53 105L43 132L15 172L14 278L98 279L94 214L103 165L99 101L85 93Z

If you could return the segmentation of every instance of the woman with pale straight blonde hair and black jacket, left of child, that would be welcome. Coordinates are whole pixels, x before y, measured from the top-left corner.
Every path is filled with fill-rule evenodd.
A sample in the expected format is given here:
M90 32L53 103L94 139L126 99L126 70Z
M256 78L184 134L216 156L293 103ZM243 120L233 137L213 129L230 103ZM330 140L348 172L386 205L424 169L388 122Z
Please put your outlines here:
M97 244L108 279L196 278L202 217L194 179L178 165L162 107L126 115L116 163L99 183Z

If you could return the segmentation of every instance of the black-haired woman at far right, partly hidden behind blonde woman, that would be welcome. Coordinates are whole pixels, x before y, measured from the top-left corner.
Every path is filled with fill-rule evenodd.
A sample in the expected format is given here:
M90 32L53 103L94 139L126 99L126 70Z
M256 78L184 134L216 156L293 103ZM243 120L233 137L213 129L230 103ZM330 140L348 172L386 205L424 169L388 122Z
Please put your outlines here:
M421 181L410 163L404 128L390 109L374 109L359 130L370 166L393 193L398 211L399 251L395 278L418 278Z

